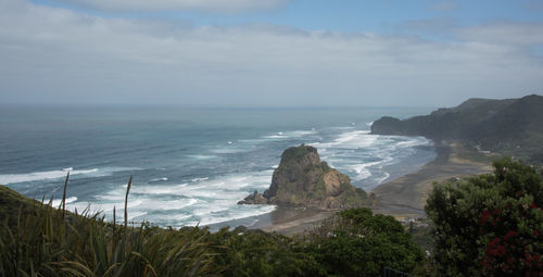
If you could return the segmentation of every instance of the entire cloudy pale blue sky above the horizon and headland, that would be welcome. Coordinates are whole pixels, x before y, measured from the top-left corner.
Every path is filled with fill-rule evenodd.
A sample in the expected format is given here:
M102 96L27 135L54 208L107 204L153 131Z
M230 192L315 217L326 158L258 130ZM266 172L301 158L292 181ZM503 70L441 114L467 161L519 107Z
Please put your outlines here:
M543 95L543 0L0 0L0 103L452 106Z

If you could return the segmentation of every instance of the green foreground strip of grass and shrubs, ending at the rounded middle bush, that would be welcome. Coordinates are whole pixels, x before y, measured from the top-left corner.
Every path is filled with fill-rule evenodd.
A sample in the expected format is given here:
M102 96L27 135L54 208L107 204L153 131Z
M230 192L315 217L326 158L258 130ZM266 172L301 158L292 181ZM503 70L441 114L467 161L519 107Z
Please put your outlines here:
M125 212L130 187L131 179ZM289 238L244 227L117 225L65 211L66 194L55 209L1 188L0 276L380 276L383 266L412 272L422 257L399 222L368 209Z

